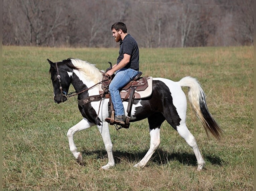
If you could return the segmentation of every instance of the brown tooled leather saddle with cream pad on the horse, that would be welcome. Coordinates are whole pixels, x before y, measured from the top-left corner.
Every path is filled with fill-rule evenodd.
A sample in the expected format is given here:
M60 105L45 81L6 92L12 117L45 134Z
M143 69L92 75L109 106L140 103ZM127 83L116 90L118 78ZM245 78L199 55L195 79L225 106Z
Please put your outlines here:
M121 125L120 128L129 128L130 126L130 118L131 118L131 109L134 99L141 99L148 97L152 94L152 77L140 77L142 72L139 72L137 76L134 77L132 81L130 81L126 86L124 86L120 90L121 99L123 101L128 100L128 107L127 107L127 116L124 125ZM107 79L106 76L103 76L103 79ZM104 94L105 98L109 98L108 108L109 108L109 117L111 118L110 124L114 124L115 118L115 110L112 104L111 95L108 91L109 84L111 83L113 78L102 82L102 86L100 86L99 93Z

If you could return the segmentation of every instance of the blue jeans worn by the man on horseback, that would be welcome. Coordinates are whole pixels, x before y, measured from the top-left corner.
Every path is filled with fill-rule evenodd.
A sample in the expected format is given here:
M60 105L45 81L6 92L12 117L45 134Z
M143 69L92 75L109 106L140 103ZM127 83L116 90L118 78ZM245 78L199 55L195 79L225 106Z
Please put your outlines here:
M113 78L109 85L109 92L111 95L113 107L115 109L115 116L124 115L124 106L121 100L119 90L128 84L135 76L138 71L133 69L122 68L116 72L116 76Z

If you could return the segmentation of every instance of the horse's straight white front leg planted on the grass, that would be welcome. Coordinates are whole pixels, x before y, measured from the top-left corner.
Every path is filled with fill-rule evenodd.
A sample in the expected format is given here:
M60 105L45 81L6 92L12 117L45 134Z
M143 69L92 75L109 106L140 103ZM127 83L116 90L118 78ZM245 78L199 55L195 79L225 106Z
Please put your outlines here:
M110 133L109 133L109 124L105 121L102 122L101 126L98 126L99 131L101 133L101 136L103 138L103 142L105 144L106 151L108 153L108 164L105 166L102 166L102 169L109 169L110 167L115 166L115 160L112 152L112 142L110 138Z

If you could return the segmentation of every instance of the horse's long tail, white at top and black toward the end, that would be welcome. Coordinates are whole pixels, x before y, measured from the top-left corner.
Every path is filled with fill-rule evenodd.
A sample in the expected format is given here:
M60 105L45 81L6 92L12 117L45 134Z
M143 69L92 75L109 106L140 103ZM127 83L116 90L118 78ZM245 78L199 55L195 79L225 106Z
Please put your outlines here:
M188 100L197 117L202 122L207 137L209 137L210 131L216 139L220 140L223 131L207 108L205 93L198 80L187 76L182 78L178 84L181 87L188 87Z

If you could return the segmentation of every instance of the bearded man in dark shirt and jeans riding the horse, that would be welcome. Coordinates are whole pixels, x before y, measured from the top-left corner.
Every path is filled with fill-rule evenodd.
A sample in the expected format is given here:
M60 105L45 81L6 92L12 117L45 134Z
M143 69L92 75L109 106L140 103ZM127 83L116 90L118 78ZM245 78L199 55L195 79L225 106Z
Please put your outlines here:
M106 72L107 76L115 77L109 85L113 107L115 109L115 123L125 124L124 106L119 90L128 84L139 72L139 48L135 39L127 33L126 25L122 22L114 23L111 27L116 42L120 42L117 64ZM106 118L110 121L110 118Z

